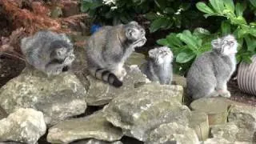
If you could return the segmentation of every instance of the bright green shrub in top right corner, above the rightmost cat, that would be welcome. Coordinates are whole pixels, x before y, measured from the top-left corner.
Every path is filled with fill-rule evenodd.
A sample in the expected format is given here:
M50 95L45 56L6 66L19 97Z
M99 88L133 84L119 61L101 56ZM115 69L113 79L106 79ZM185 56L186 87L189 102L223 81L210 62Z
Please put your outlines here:
M251 10L255 9L256 1L250 0L250 4ZM198 10L206 13L204 15L206 18L210 16L226 18L220 27L222 35L234 34L240 43L237 54L238 62L250 62L251 56L256 54L256 23L248 23L243 17L247 1L237 2L234 5L233 0L210 0L208 5L204 2L198 2L196 6Z

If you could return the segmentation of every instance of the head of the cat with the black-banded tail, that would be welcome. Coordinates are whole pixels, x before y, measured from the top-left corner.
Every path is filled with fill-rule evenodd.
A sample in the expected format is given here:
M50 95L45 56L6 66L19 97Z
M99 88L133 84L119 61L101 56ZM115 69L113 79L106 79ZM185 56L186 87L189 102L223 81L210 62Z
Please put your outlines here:
M146 32L137 22L128 23L125 30L126 38L132 41L134 46L143 46L146 43Z

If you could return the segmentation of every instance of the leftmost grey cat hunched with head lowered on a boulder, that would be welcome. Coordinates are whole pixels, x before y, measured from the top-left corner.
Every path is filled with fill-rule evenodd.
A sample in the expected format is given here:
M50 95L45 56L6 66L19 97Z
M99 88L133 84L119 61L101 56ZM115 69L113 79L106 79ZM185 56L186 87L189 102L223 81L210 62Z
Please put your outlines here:
M26 62L48 76L57 75L70 68L74 61L74 48L66 34L57 34L50 30L22 38L22 53Z

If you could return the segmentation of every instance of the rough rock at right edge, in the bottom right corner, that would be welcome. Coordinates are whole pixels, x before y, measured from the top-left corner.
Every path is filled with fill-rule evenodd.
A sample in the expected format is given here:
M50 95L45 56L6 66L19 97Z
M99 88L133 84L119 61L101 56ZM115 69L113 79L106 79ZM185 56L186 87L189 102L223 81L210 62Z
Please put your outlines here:
M238 126L236 137L239 141L256 142L256 107L232 106L228 120Z

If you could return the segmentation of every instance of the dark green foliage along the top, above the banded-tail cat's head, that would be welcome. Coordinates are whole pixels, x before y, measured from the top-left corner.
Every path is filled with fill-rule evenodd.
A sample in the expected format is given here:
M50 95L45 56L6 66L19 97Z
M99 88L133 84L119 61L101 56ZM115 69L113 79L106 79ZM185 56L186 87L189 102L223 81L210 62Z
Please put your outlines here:
M150 32L155 32L189 25L198 17L190 7L190 2L175 0L82 0L81 10L102 25L127 23L142 15L150 21Z

